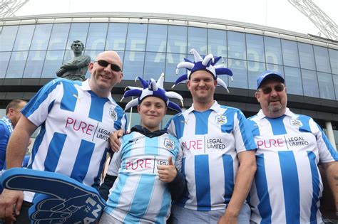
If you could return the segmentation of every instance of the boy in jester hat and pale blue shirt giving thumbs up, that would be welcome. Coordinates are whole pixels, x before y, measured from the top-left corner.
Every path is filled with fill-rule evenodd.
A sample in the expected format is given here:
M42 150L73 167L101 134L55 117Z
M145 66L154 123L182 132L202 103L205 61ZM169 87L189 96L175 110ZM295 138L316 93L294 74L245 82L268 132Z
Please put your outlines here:
M128 87L123 98L137 97L126 110L137 106L142 125L121 138L120 150L113 155L100 187L103 198L109 194L100 223L166 223L172 197L180 198L185 189L180 143L159 128L167 107L181 112L168 97L183 98L165 92L163 74L158 82L138 80L142 87Z

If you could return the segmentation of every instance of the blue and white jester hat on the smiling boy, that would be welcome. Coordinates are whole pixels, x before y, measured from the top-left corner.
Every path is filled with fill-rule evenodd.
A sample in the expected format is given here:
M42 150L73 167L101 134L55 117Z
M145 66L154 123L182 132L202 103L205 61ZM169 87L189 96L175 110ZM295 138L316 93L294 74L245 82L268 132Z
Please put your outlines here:
M183 97L179 95L177 92L166 92L165 89L163 88L163 82L164 82L164 74L162 73L160 75L160 78L158 78L158 81L156 82L153 78L150 78L150 80L147 82L146 80L143 80L143 78L136 77L140 81L140 84L142 85L142 88L140 87L132 87L132 86L127 86L127 90L121 101L126 98L126 97L138 97L137 99L131 100L128 102L126 105L126 109L128 110L130 107L135 107L140 104L140 102L145 98L145 97L158 97L167 104L167 107L176 110L178 112L182 112L180 109L180 106L175 104L175 102L171 102L168 98L175 98L181 101L183 105ZM136 80L135 80L136 81Z

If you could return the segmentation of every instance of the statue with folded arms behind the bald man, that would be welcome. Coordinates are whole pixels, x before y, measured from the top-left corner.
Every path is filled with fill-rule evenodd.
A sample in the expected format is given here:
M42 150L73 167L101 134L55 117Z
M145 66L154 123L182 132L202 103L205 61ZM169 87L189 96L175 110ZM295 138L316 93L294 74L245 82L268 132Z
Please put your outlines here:
M73 50L74 58L64 63L59 70L56 71L56 75L68 80L86 80L85 75L88 70L88 65L91 62L91 57L88 55L82 55L84 45L81 41L73 41L71 43L71 50Z

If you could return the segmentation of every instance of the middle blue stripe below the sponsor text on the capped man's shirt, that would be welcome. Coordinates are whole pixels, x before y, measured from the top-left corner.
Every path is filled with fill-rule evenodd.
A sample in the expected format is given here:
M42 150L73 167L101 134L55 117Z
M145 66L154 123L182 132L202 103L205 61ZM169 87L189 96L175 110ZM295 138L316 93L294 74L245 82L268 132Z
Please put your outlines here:
M275 134L275 133L274 133ZM299 223L299 179L297 164L293 151L278 151L285 201L285 217L287 224Z

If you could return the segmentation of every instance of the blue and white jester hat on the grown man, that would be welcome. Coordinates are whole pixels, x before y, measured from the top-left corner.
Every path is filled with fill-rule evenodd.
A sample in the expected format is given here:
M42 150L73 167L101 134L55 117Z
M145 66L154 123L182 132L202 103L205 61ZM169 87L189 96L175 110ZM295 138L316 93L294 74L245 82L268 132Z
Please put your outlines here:
M188 73L185 75L181 75L176 80L175 85L178 85L181 82L185 82L185 80L189 80L190 75L193 74L195 71L206 70L213 76L214 80L217 80L217 85L225 87L225 90L227 90L227 85L223 80L217 78L217 75L229 75L232 80L232 71L229 68L225 68L224 64L215 65L222 58L222 56L214 57L210 53L206 55L204 58L202 58L195 49L191 49L190 53L194 54L195 61L191 61L188 58L184 58L185 61L178 63L176 74L178 74L179 68L188 69ZM173 87L175 87L175 85L173 85ZM229 90L227 90L227 92L229 92Z

